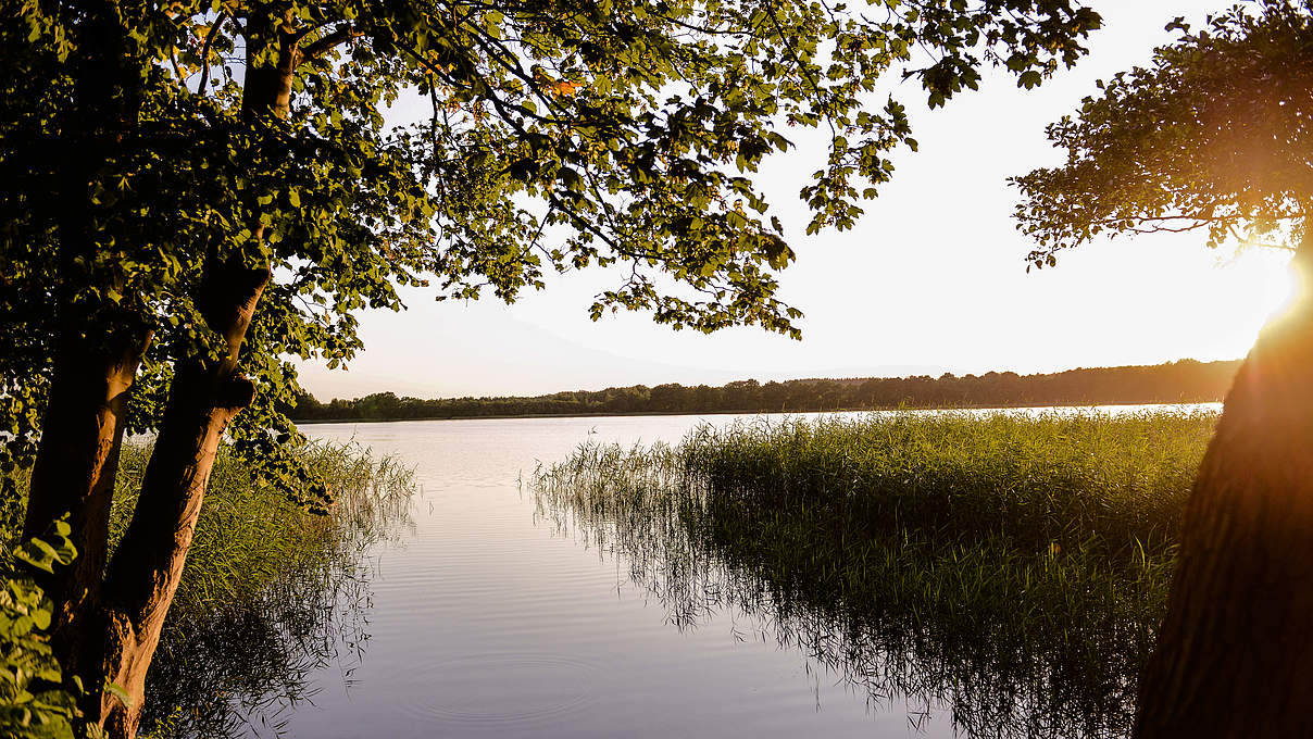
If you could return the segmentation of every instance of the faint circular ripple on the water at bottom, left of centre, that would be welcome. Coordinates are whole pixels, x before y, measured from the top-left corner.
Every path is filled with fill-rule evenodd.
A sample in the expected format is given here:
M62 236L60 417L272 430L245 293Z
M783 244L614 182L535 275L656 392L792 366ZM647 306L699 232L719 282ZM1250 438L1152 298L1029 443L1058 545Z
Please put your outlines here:
M592 702L597 667L557 654L467 654L414 676L399 710L427 725L534 728ZM507 685L507 680L513 685Z

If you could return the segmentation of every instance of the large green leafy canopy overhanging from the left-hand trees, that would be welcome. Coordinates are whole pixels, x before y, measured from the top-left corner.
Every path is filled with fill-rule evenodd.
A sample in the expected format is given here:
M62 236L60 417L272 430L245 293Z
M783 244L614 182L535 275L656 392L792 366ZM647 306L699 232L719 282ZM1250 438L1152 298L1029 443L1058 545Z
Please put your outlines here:
M173 362L226 352L198 302L239 259L274 280L230 433L284 476L290 360L348 360L353 312L400 308L399 286L513 301L604 266L593 318L797 336L754 180L788 131L829 138L809 232L851 228L915 147L902 104L872 105L882 76L931 106L986 63L1033 87L1099 25L1071 0L0 4L0 463L30 457L60 327L152 332L130 431L158 428ZM252 106L278 68L288 106ZM390 122L416 100L425 119Z

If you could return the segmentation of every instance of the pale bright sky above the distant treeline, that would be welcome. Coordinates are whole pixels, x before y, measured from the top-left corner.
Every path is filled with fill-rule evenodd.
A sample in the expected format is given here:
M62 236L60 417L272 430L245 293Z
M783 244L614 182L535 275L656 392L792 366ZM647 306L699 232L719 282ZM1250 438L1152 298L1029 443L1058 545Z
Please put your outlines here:
M1091 4L1104 28L1088 56L1037 89L986 71L979 91L926 110L915 83L895 87L920 147L895 155L893 181L851 231L804 234L797 190L818 168L813 142L762 168L769 213L797 253L780 297L805 314L801 341L756 327L676 332L645 314L591 322L592 297L611 280L586 270L511 306L408 290L407 311L361 315L365 349L347 371L305 362L302 383L320 400L450 398L1242 357L1288 294L1284 252L1236 255L1208 249L1203 234L1158 234L1094 242L1056 268L1025 270L1033 244L1015 230L1007 177L1061 163L1045 125L1095 93L1095 80L1148 62L1174 17L1199 22L1232 0Z

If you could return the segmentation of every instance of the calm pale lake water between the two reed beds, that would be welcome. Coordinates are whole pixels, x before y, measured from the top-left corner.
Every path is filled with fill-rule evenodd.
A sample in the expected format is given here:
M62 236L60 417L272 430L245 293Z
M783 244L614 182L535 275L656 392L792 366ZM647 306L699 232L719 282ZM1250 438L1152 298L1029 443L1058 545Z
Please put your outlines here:
M1217 408L1217 404L1188 408ZM1128 412L1138 407L1108 407ZM1008 411L1033 412L1033 411ZM742 417L742 416L738 416ZM678 441L735 416L306 425L418 473L414 526L369 553L369 638L273 710L291 736L952 736L951 706L881 698L781 646L765 617L676 625L626 563L534 516L538 462ZM521 490L520 480L524 480ZM358 626L358 623L357 623ZM361 629L353 629L358 634ZM268 715L248 732L273 735Z

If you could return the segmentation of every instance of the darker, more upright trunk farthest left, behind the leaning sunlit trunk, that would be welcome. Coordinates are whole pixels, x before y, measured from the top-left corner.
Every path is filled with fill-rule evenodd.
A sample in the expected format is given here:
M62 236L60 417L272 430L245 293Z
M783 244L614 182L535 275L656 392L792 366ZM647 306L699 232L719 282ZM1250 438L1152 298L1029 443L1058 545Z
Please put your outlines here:
M49 156L59 163L51 201L56 214L59 269L95 263L106 244L126 240L131 215L108 218L93 192L101 177L126 173L125 142L135 135L140 112L140 79L150 60L122 25L114 0L80 8L75 26L74 95L64 144ZM74 59L70 59L72 63ZM96 268L92 268L96 269ZM95 273L105 278L105 270ZM122 445L127 400L151 331L142 323L121 277L109 277L117 301L62 293L53 328L54 368L50 399L41 424L41 442L28 492L22 536L39 537L67 516L77 557L54 574L38 574L54 610L51 647L64 671L87 689L84 707L100 700L102 684L98 597L109 537L109 512Z

